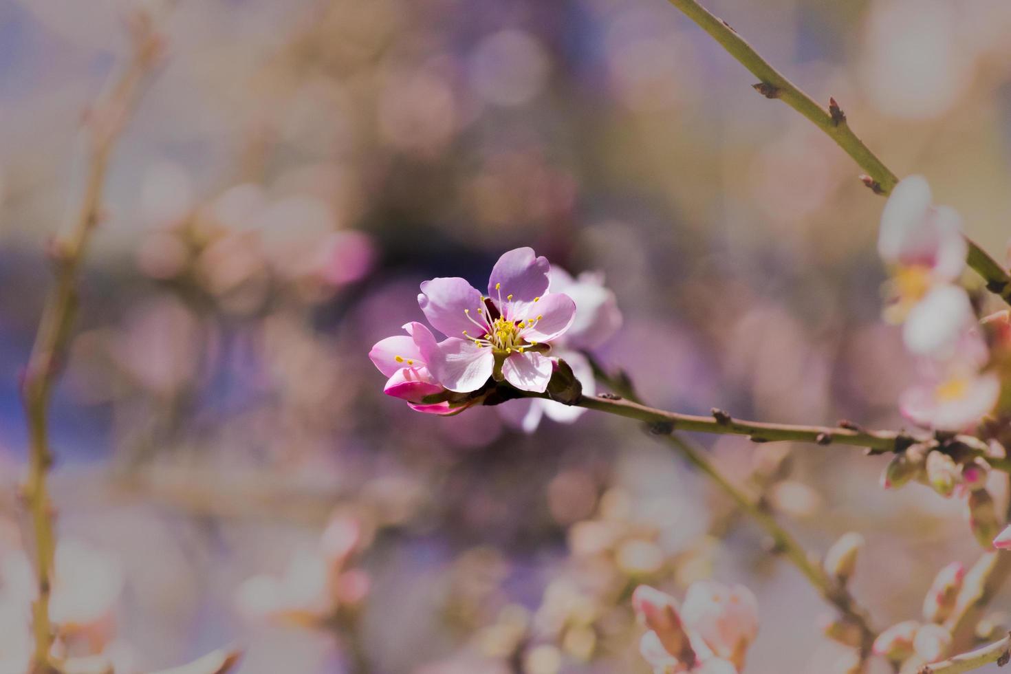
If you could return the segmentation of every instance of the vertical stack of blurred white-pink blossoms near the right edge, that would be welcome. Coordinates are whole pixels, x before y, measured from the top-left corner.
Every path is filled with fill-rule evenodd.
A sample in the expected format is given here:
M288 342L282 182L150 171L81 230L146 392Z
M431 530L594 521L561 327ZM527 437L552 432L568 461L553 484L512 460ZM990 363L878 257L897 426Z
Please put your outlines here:
M987 370L976 312L957 285L968 253L961 217L933 204L925 178L910 176L885 205L878 251L892 271L886 317L903 323L920 368L920 381L901 397L903 414L939 430L976 424L997 404L1000 379Z

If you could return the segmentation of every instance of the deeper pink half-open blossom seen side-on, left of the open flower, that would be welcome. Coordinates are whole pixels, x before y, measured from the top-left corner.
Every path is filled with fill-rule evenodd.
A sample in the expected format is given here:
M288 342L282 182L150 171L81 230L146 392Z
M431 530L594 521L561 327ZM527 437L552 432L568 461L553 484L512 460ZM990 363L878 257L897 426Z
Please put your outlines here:
M389 379L383 393L406 400L411 409L430 414L450 414L459 411L446 400L426 403L428 396L439 395L446 389L429 370L429 362L438 351L432 330L417 321L405 323L407 334L380 340L372 347L369 358Z

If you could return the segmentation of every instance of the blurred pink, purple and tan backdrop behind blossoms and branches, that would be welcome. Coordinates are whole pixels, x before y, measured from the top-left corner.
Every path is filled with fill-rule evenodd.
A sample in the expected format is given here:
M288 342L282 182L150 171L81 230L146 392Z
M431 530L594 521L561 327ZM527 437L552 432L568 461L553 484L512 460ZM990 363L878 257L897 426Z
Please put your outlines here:
M1011 4L708 4L1004 260ZM0 0L0 661L26 647L17 381L44 243L135 9ZM234 643L243 674L645 672L631 588L714 577L758 597L746 671L845 653L635 423L419 414L366 355L421 319L422 280L482 287L533 246L604 273L625 320L598 356L656 406L898 427L884 201L848 157L662 0L180 0L158 26L54 402L69 649L122 671ZM959 503L878 487L886 459L699 440L811 550L864 533L879 627L979 554Z

